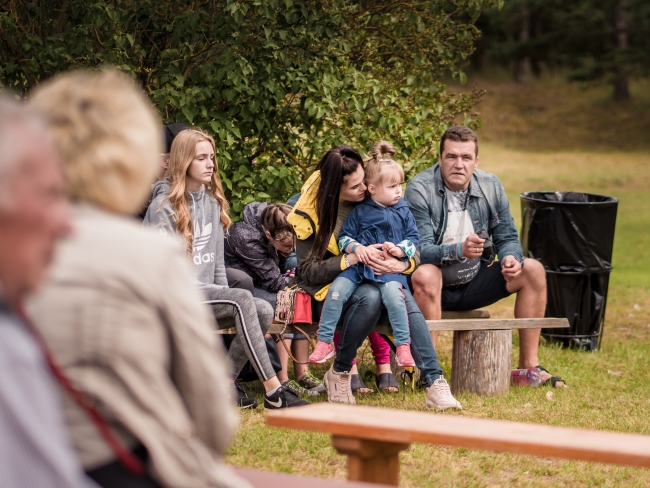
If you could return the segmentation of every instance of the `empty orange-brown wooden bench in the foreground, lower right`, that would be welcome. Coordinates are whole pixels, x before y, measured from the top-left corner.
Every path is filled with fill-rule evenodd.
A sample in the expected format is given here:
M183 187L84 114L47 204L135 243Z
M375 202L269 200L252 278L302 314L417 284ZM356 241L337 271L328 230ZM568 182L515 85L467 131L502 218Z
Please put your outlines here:
M397 486L413 442L650 468L650 436L320 403L271 410L272 427L324 432L348 456L348 479Z

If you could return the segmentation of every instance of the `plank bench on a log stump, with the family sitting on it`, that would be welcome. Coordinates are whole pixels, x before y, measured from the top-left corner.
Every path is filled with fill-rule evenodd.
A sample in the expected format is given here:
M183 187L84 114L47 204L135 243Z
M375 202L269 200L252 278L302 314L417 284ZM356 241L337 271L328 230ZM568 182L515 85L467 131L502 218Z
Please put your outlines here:
M234 319L219 319L218 334L236 334ZM565 318L491 319L487 310L442 312L442 320L427 320L430 331L454 331L451 364L451 388L454 393L466 392L480 396L505 395L510 388L512 360L512 329L569 327ZM315 334L318 324L300 324L308 334ZM269 334L296 330L273 323ZM390 324L380 322L373 329L392 335Z

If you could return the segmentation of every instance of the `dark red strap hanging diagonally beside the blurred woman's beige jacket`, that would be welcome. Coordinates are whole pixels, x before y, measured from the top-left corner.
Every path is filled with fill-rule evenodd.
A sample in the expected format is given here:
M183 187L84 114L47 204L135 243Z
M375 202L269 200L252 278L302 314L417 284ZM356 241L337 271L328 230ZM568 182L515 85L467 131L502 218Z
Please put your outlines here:
M86 412L90 420L92 420L92 422L95 424L95 427L97 427L97 430L102 435L106 443L113 450L120 463L122 463L125 468L131 471L131 473L137 476L144 476L146 474L144 464L122 443L120 439L116 437L116 435L111 430L108 421L104 418L101 412L86 399L83 393L81 393L72 385L70 379L63 373L63 370L54 361L54 358L50 354L50 351L47 349L43 338L36 330L36 327L34 327L32 322L29 320L21 305L17 307L17 311L18 315L25 323L27 330L29 330L32 337L38 344L38 347L41 350L41 353L43 354L43 357L45 358L45 361L49 366L52 375L56 378L59 385L61 385L61 387L67 391L68 394L74 399L77 405L79 405Z

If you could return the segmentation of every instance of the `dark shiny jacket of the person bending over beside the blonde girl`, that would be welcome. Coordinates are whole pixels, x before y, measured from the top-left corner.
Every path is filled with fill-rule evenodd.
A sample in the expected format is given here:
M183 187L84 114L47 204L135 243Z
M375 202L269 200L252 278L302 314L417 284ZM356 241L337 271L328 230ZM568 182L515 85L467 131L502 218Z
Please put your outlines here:
M280 257L266 238L262 227L262 212L268 203L249 203L242 219L230 227L224 243L226 266L243 271L253 278L255 288L276 292L290 278L280 272Z

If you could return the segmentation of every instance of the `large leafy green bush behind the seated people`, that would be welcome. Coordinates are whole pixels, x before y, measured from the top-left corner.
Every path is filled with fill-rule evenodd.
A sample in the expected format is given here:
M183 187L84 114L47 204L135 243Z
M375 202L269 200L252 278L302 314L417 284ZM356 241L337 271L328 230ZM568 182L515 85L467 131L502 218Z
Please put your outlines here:
M412 176L480 93L448 94L496 0L15 1L0 7L0 83L22 94L113 65L165 123L215 136L234 213L300 188L332 145L386 138Z

